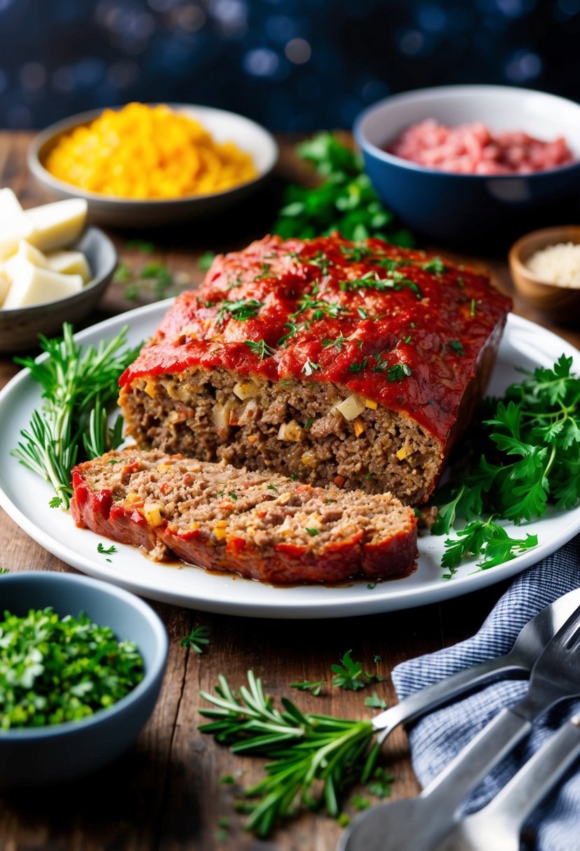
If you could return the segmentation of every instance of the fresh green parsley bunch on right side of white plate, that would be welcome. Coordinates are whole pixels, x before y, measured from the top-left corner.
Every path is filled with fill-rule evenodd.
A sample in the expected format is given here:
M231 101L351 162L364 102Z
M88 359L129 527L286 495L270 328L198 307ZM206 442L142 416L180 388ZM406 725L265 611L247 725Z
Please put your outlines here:
M483 421L485 454L441 489L434 534L469 521L458 539L446 540L448 576L464 555L481 555L480 567L490 568L537 545L537 535L510 538L494 518L518 524L543 517L549 502L563 511L580 502L580 377L571 364L562 355L552 368L520 370L526 378Z

